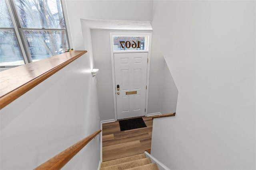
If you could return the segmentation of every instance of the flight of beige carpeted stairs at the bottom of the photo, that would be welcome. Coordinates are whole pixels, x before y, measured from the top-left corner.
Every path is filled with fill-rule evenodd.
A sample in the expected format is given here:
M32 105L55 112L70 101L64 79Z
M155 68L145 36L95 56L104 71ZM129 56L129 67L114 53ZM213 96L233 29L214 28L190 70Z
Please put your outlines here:
M143 153L102 162L100 170L158 170L158 167Z

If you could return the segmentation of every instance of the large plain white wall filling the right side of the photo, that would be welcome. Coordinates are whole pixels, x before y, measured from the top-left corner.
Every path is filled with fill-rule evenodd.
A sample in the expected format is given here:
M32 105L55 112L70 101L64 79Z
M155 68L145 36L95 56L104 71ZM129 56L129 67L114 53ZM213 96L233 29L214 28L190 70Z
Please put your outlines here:
M158 1L152 21L179 90L154 119L152 155L170 169L256 169L255 1Z

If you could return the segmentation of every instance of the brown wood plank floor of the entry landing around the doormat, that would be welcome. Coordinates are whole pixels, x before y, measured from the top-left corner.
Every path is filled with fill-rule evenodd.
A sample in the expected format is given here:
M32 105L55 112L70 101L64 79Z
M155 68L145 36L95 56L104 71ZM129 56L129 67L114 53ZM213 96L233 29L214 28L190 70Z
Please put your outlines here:
M120 131L118 121L102 124L102 161L144 153L151 148L153 120L142 117L147 127Z

